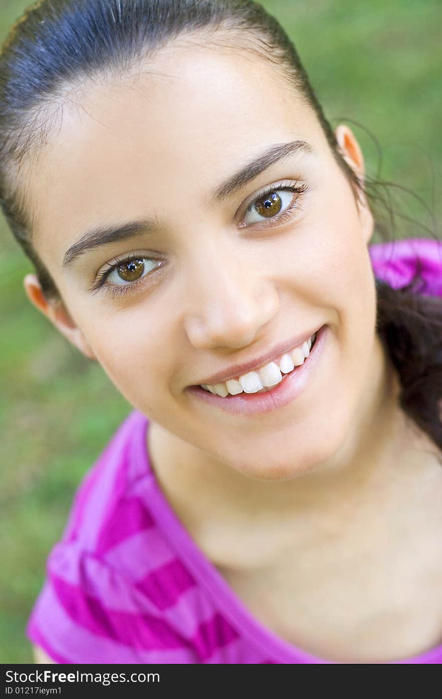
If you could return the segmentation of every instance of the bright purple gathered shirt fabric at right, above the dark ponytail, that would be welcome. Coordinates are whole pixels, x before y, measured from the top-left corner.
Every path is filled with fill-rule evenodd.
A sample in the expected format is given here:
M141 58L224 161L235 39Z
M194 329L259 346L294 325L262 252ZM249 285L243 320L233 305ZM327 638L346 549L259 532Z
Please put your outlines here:
M417 291L442 296L442 240L405 238L369 245L374 274L393 289L402 289L420 274Z

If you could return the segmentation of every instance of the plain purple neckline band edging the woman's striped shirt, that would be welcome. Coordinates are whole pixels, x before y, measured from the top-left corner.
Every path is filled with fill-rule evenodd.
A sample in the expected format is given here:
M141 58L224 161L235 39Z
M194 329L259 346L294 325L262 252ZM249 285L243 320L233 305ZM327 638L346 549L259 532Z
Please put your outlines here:
M219 570L216 569L212 561L198 547L165 497L147 452L147 431L149 430L150 421L138 410L134 412L140 418L140 430L138 431L140 443L137 443L138 440L133 442L135 447L134 457L138 461L140 460L142 473L147 476L145 480L145 484L147 484L145 494L149 510L152 512L156 522L161 526L177 556L186 561L186 565L191 570L193 577L198 580L200 586L207 590L219 611L225 615L234 628L241 630L248 642L256 647L263 654L263 657L272 659L272 661L297 664L347 664L320 658L304 651L281 638L249 612L246 605L230 587L226 579L223 578ZM442 644L417 656L376 664L431 663L439 654L442 654Z

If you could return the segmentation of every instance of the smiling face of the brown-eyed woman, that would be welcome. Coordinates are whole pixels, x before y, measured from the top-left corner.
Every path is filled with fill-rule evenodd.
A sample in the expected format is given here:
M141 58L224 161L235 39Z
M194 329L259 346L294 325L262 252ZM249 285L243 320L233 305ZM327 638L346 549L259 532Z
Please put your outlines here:
M339 138L362 168L351 131ZM214 196L275 145L300 140L311 152L286 148ZM378 371L373 220L358 212L314 113L272 64L231 50L163 50L149 72L66 101L37 163L35 244L68 315L40 310L135 408L262 479L323 463L358 429ZM281 189L290 185L307 191ZM269 214L260 194L270 186ZM64 264L91 231L89 249ZM125 257L141 262L99 276ZM25 288L36 303L35 277ZM189 391L324 325L321 357L283 407L230 412L221 407L229 398L207 403Z

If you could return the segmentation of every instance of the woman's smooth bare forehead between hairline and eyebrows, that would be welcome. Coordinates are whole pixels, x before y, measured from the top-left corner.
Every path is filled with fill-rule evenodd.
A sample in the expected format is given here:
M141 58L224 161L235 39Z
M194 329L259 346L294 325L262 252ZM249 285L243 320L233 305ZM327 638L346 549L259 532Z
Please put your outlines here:
M29 173L36 245L48 231L75 239L143 207L172 214L172 192L204 206L212 185L263 145L318 140L313 111L270 62L244 52L172 47L71 98Z

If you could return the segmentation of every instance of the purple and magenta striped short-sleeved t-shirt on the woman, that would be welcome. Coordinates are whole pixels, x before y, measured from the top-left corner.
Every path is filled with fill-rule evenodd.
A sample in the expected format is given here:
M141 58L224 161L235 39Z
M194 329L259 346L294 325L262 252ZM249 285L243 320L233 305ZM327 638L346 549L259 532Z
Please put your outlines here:
M395 288L420 257L419 293L442 296L442 243L378 243L369 252L376 277ZM47 559L29 640L58 663L333 663L246 609L163 495L148 429L133 410L84 476ZM442 663L442 645L395 663Z

